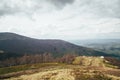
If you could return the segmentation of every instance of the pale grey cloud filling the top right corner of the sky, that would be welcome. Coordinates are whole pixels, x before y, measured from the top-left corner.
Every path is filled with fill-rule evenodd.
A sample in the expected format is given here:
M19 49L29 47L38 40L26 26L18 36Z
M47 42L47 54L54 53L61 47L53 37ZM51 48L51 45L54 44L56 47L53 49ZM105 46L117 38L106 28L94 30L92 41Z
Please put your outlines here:
M80 0L84 13L93 13L100 17L120 18L120 0Z

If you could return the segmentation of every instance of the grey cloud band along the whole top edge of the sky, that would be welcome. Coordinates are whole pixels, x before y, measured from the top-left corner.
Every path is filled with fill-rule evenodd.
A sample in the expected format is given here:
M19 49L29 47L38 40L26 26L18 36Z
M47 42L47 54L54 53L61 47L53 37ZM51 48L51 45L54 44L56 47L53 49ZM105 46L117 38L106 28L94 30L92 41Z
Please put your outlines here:
M23 4L15 3L20 1ZM27 5L27 1L31 2ZM75 3L77 2L77 3ZM93 14L98 17L120 18L120 0L1 0L0 16L25 13L33 14L34 12L51 11L63 9L67 4L79 5L77 8L78 15ZM74 12L74 10L71 10ZM80 13L80 14L79 14Z

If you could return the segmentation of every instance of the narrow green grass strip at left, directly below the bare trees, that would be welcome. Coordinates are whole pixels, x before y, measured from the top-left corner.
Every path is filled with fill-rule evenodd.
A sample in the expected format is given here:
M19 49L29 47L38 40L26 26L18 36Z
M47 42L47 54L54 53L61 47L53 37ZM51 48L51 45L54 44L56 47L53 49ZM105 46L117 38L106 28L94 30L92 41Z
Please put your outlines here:
M59 66L59 65L64 65L64 64L38 63L38 64L26 64L26 65L20 65L20 66L5 67L5 68L0 68L0 75L12 73L12 72L24 71L24 70L39 69L47 66Z

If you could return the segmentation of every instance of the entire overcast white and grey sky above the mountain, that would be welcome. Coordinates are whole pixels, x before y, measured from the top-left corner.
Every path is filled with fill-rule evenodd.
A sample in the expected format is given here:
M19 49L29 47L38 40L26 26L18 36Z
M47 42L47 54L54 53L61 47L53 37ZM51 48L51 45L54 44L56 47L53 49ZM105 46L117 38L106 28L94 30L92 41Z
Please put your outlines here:
M0 0L0 32L38 39L120 39L120 0Z

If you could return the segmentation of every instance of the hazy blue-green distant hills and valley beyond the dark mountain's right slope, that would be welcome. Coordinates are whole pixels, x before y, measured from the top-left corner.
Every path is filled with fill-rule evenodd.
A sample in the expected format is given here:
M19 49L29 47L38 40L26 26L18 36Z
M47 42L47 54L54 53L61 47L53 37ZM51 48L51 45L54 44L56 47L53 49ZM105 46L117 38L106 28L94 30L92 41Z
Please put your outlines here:
M107 54L120 56L120 39L92 39L92 40L74 40L74 44L82 45Z

